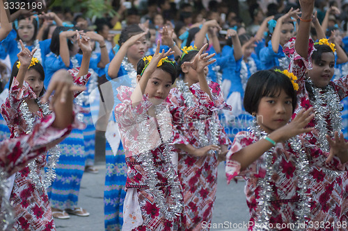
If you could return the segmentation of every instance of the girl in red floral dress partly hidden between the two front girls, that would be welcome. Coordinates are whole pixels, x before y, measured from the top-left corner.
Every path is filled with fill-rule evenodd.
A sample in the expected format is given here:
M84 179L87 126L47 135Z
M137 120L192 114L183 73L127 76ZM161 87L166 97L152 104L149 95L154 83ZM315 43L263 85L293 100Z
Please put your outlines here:
M187 53L185 53L187 52ZM190 46L184 49L180 58L180 74L176 87L171 89L167 101L173 107L193 107L198 99L189 91L189 87L197 84L198 73L184 65L192 62L198 53ZM205 74L207 67L205 67ZM205 77L205 76L204 76ZM217 83L208 82L211 92L223 101L222 92ZM202 230L202 223L211 223L212 211L216 198L217 166L225 160L230 146L219 121L218 113L208 119L189 121L174 125L173 143L178 153L177 175L184 194L184 220L186 230Z

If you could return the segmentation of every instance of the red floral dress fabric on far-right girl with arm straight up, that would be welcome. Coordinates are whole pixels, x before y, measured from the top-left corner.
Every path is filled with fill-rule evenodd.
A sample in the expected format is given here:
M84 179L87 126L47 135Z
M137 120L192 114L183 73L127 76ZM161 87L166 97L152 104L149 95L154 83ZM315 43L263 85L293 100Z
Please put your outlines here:
M311 55L315 51L313 40L310 40L308 46L308 59L302 58L294 49L295 39L292 38L287 46L286 54L292 59L290 63L290 71L292 71L298 78L299 90L297 92L297 107L292 115L294 118L297 113L303 108L310 108L312 102L306 89L305 73L306 69L312 69ZM340 100L348 96L348 76L342 77L335 81L330 81L329 85L333 87L335 93L338 94ZM322 105L325 107L326 105ZM328 130L331 130L331 120L329 114L324 115ZM315 126L315 119L308 123L308 127ZM317 143L317 130L301 135L303 139L308 140L310 144ZM324 160L322 160L324 161ZM317 163L318 164L318 163ZM337 171L340 169L341 171ZM340 166L333 166L333 169L322 169L315 166L310 175L311 188L313 189L313 221L348 221L348 176L347 164L342 168ZM324 230L324 229L323 229Z

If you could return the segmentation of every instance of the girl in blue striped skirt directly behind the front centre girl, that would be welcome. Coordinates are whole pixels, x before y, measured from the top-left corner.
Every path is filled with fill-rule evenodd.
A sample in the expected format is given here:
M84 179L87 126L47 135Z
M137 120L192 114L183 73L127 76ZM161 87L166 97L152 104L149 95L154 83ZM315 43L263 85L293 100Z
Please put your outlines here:
M120 34L119 50L106 65L106 78L110 89L105 90L104 101L112 100L113 105L120 103L117 99L117 87L122 85L136 86L136 65L147 50L147 39L144 31L136 24L123 28ZM113 80L114 79L114 80ZM109 94L109 92L113 92ZM114 108L114 107L113 107ZM125 151L120 142L117 121L111 115L105 132L106 137L106 176L104 188L104 226L105 230L121 230L123 224L123 203L125 200L125 184L127 180L127 164Z

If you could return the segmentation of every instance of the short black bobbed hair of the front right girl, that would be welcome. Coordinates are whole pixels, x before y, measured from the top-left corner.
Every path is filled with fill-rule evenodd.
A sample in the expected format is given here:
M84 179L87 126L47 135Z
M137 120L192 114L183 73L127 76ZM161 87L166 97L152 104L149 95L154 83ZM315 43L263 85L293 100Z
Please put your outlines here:
M253 114L258 112L262 97L277 96L281 90L292 99L292 112L297 103L297 95L290 78L278 71L262 70L250 76L246 83L244 93L244 108L246 112Z

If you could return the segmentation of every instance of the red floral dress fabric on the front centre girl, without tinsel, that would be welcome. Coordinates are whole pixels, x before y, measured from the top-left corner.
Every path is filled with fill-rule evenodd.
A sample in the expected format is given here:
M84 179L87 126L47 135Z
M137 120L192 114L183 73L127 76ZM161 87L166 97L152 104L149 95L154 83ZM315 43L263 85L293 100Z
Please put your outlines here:
M168 107L165 102L162 103L163 113L161 114L166 114L164 116L165 119L168 119L169 116L169 121L167 120L168 124L161 124L161 121L157 121L157 119L147 114L149 108L152 106L152 103L148 100L148 96L143 96L143 101L134 107L132 106L132 101L130 100L132 92L133 89L131 87L118 87L118 99L122 103L116 106L115 117L120 128L128 166L126 188L137 189L136 199L141 207L141 216L143 218L143 225L139 225L134 230L181 230L184 227L181 216L177 216L174 221L168 221L163 214L159 213L159 208L154 202L154 195L152 195L146 183L148 176L141 165L144 161L144 155L142 153L144 151L151 151L152 157L155 160L157 178L161 182L159 187L164 192L167 203L173 203L171 201L171 189L168 187L165 177L166 174L164 173L168 167L173 166L166 166L161 159L165 143L162 142L162 134L170 134L172 136L172 122L187 123L194 119L206 119L211 117L212 112L218 110L221 105L210 101L209 96L202 90L194 89L196 96L200 97L198 98L200 99L198 105L194 108L184 106ZM171 115L173 115L173 120ZM161 133L161 137L159 137L159 132ZM146 147L144 148L144 146ZM134 205L125 204L125 207L134 208Z

